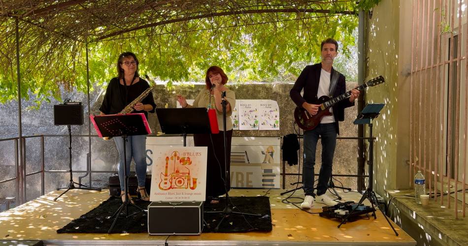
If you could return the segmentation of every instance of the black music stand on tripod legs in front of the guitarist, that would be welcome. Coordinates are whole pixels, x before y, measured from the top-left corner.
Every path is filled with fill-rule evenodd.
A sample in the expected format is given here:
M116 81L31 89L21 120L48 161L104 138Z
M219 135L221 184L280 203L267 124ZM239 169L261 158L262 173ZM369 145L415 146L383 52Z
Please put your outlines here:
M346 220L348 219L349 215L353 214L354 211L363 204L364 200L366 198L369 200L370 204L372 205L373 213L372 215L374 216L374 219L377 218L377 215L375 215L375 209L374 207L378 207L378 200L377 196L375 195L374 190L372 189L372 179L373 179L373 145L374 145L374 138L372 137L372 119L376 118L380 114L380 110L382 110L383 106L385 106L384 103L378 103L378 104L368 104L366 107L364 107L363 111L358 115L356 120L354 120L354 124L368 124L369 125L369 160L368 160L368 167L369 167L369 185L368 188L366 189L366 192L364 192L363 196L361 197L361 200L359 200L358 206L355 206L353 210L349 214L343 217L343 220L341 223L339 223L338 228L343 224L346 223ZM380 209L379 209L380 210ZM388 224L390 227L393 229L395 232L395 235L398 236L397 231L393 227L392 223L388 219L387 215L383 213L382 210L380 210L382 215L385 217L387 220Z

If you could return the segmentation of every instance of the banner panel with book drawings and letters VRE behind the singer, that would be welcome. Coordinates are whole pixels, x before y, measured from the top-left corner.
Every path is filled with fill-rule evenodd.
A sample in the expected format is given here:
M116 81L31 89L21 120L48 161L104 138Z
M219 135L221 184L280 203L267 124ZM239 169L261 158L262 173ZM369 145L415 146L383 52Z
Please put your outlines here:
M280 139L233 137L231 187L280 188Z

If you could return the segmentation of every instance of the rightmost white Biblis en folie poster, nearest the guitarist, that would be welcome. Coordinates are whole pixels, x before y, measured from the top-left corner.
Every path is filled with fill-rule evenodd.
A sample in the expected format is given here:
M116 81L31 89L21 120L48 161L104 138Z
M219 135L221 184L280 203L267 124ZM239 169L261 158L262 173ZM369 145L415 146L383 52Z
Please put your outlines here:
M260 100L260 130L279 130L279 107L273 100Z

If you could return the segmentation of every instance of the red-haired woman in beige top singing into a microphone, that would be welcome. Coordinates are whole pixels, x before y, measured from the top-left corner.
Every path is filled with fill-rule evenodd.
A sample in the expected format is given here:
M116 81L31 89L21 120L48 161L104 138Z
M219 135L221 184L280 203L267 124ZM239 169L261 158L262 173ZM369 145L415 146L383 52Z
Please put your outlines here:
M206 87L195 97L193 105L187 104L185 97L177 95L177 101L184 108L212 108L216 110L216 117L220 132L218 134L194 134L195 146L207 146L208 158L206 168L206 201L218 203L217 197L225 194L230 190L229 174L226 174L224 165L224 143L223 143L223 106L221 94L226 92L224 99L226 105L226 154L227 154L227 171L231 166L231 138L233 136L233 123L231 115L235 106L235 94L233 91L226 88L224 85L228 82L228 76L223 69L218 66L211 66L206 71L205 84ZM225 188L225 182L227 190Z

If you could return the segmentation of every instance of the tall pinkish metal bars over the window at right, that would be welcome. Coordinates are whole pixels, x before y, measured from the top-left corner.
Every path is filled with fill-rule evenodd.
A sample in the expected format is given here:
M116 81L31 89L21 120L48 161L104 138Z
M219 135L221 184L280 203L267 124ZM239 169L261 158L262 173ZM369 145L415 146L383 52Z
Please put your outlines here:
M463 5L466 1L413 0L411 25L409 182L412 186L420 170L431 198L447 208L453 203L455 218L459 195L462 205L467 195L468 10Z

